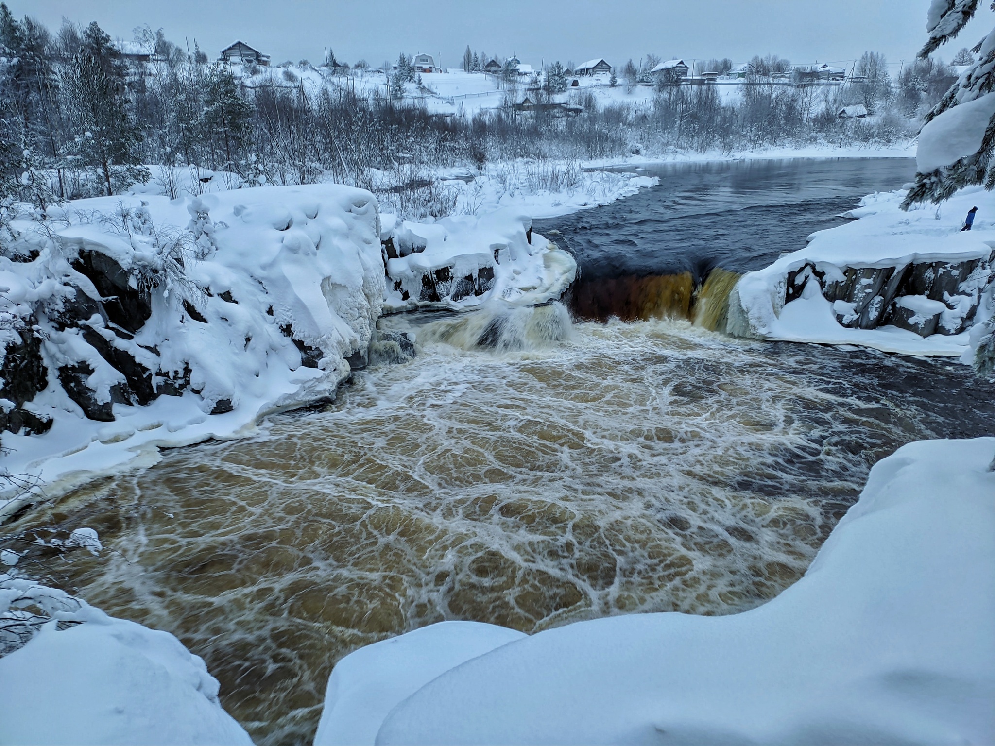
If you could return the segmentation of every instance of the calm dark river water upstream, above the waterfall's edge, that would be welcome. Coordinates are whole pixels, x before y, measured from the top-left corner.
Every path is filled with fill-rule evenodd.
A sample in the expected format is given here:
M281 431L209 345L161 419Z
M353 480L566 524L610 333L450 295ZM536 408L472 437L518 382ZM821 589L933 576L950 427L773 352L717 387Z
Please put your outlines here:
M660 184L612 205L534 221L559 231L582 276L743 273L805 246L875 191L915 174L911 158L683 163L641 169Z

